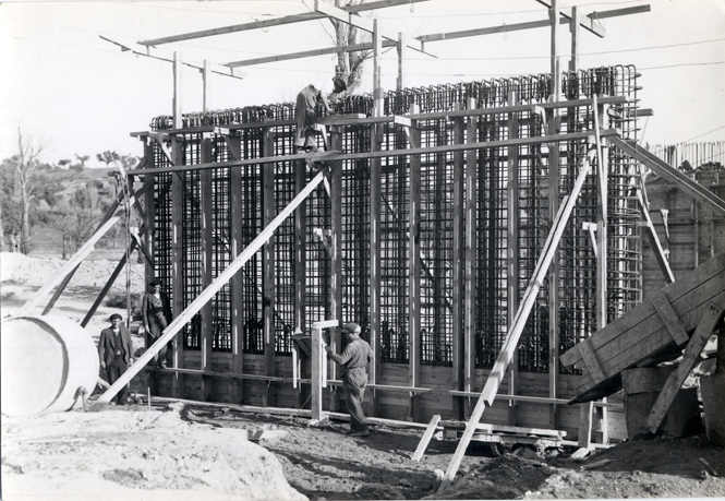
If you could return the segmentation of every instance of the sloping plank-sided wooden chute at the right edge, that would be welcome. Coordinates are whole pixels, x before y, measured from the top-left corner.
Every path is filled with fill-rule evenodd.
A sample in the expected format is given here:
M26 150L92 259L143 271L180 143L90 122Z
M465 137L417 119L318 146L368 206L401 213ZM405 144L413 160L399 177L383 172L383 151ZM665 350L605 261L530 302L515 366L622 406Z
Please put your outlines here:
M625 369L679 356L708 309L725 308L724 284L725 254L720 254L563 354L565 367L584 369L570 403L618 392Z

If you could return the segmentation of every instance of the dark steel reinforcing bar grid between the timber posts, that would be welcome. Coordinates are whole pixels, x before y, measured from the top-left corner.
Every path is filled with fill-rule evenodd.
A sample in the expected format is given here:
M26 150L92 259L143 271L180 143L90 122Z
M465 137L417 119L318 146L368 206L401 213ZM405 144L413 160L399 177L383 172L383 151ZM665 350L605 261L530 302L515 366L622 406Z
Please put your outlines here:
M560 100L571 103L561 108L557 119L559 134L592 131L594 110L591 100L597 96L624 96L623 104L611 105L606 120L618 129L626 141L637 140L637 72L633 67L607 67L563 74ZM419 114L434 114L464 109L472 98L475 108L496 108L512 105L543 104L549 100L551 75L517 76L482 82L407 88L385 95L385 115L410 114L413 105ZM515 99L515 103L511 103ZM371 96L350 96L334 104L338 114L372 112ZM319 110L323 115L323 110ZM481 115L474 130L456 129L455 120L443 117L419 120L420 147L450 145L455 142L492 142L510 138L536 138L547 133L545 116L532 111L517 114ZM203 270L210 266L217 276L235 258L232 229L242 235L242 248L264 229L265 196L274 196L274 214L278 214L295 195L295 169L299 163L286 160L294 153L294 104L253 106L183 117L183 165L204 162L220 163L234 157L223 136L196 132L195 128L249 123L239 130L241 158L279 156L274 164L274 190L265 190L263 165L219 167L206 170L174 170L154 178L154 273L167 284L174 270L183 276L183 287L173 298L182 309L191 303L205 287ZM513 126L515 123L515 126ZM383 127L380 150L410 147L403 126L392 121ZM515 129L512 129L515 127ZM154 119L156 132L171 128L170 117ZM271 130L265 140L263 130ZM461 132L462 131L462 132ZM341 130L341 153L371 151L370 124L345 126ZM463 138L457 134L464 134ZM471 133L475 138L469 138ZM207 141L208 140L208 141ZM205 142L206 141L206 142ZM266 141L266 142L265 142ZM205 146L206 145L206 146ZM321 150L323 143L319 143ZM209 150L205 154L203 148ZM516 200L509 193L509 147L478 150L475 186L475 367L490 369L502 348L509 326L509 302L519 301L536 266L544 242L552 227L549 205L549 159L558 157L558 201L560 204L571 191L583 157L587 139L558 143L537 143L516 147L518 179ZM639 212L636 190L641 188L637 163L617 151L607 152L608 226L607 226L607 285L608 321L629 311L640 301L640 239ZM452 325L455 255L455 157L454 152L432 152L420 155L420 263L416 278L420 286L421 365L451 366L454 363ZM154 167L170 167L164 148L153 143ZM380 176L380 327L379 353L383 363L408 363L410 349L410 156L383 157ZM358 322L362 337L371 336L371 160L343 160L341 168L341 267L342 322ZM548 297L547 284L541 288L529 317L518 349L521 371L549 372L549 351L564 353L596 331L596 257L588 223L596 220L597 172L595 160L587 177L578 203L566 227L555 263L558 267L558 298ZM237 170L237 172L234 172ZM206 174L205 174L206 172ZM307 180L316 174L305 168ZM181 198L172 196L173 178L181 183ZM206 194L204 193L206 190ZM210 200L210 228L202 220L203 200ZM174 208L176 207L176 208ZM176 214L178 211L181 214ZM233 215L237 211L238 216ZM291 355L295 330L309 332L313 321L331 318L329 289L331 282L329 259L329 219L333 207L324 184L319 184L305 202L306 236L304 246L304 318L295 325L297 296L294 259L294 218L288 218L273 237L271 265L274 273L265 275L263 252L258 251L239 272L243 309L238 315L231 311L231 284L225 285L212 302L214 351L231 351L232 319L239 323L244 354L263 354L274 346L276 356ZM518 222L518 232L511 237L508 222L511 214ZM176 219L174 219L176 217ZM181 227L181 242L172 248L174 220ZM233 226L237 225L237 228ZM516 241L510 241L513 238ZM513 275L507 269L509 248L515 249L518 270ZM208 251L210 249L210 252ZM180 261L176 264L174 261ZM269 284L266 276L274 276ZM515 276L515 284L509 277ZM511 287L509 287L511 286ZM168 287L167 287L168 289ZM173 294L173 290L167 290ZM518 297L512 298L516 294ZM558 346L549 346L549 306L557 305ZM274 343L264 343L264 311L271 308ZM179 314L180 311L174 311ZM202 349L201 313L183 331L185 351ZM267 348L269 349L269 348ZM565 372L563 368L556 368ZM571 371L572 369L568 369Z

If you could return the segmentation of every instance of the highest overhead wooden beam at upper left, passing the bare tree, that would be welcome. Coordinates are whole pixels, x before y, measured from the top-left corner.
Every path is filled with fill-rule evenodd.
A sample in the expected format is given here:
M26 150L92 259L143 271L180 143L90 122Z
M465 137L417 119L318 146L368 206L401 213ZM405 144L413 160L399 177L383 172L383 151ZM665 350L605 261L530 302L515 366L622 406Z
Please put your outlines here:
M384 0L377 2L362 3L360 5L347 5L341 9L346 12L358 13L374 9L383 9L386 7L407 5L409 3L418 3L422 1L427 1L427 0ZM170 44L172 41L192 40L194 38L204 38L207 36L226 35L229 33L247 32L251 29L262 29L271 26L281 26L285 24L300 23L303 21L317 21L323 19L325 19L325 15L319 14L317 12L303 12L300 14L287 15L285 17L277 17L274 20L255 21L253 23L234 24L231 26L222 26L218 28L203 29L200 32L185 33L181 35L167 36L162 38L155 38L152 40L142 40L138 41L138 44L146 47L152 47L157 45Z

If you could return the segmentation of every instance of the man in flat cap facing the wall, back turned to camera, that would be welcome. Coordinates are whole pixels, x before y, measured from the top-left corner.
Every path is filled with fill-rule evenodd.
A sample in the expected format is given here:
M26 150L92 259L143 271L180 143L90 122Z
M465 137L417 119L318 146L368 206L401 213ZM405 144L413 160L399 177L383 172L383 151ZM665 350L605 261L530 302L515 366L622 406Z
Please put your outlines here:
M343 324L341 332L348 342L342 355L333 353L333 348L327 345L325 349L329 358L345 368L342 382L350 413L350 432L352 437L367 437L370 429L362 403L367 385L367 362L373 359L373 351L367 342L360 337L361 329L357 323Z

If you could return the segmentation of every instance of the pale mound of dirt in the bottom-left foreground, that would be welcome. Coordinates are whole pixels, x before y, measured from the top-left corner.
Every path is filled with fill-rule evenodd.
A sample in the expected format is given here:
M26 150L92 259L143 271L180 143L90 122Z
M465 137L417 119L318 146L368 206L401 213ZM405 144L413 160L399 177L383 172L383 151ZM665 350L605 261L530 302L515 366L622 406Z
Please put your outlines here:
M142 409L3 417L3 499L306 499L243 430Z

